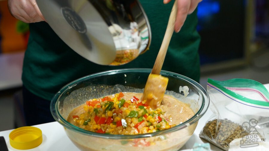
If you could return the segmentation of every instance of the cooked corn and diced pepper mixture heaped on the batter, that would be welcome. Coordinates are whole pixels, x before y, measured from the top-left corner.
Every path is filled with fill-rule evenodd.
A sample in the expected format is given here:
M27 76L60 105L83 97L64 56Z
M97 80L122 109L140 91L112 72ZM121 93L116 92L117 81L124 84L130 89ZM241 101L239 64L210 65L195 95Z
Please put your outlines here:
M160 108L153 110L136 96L125 99L122 92L100 99L90 99L79 115L71 115L73 124L85 130L107 134L145 134L176 126L165 119Z

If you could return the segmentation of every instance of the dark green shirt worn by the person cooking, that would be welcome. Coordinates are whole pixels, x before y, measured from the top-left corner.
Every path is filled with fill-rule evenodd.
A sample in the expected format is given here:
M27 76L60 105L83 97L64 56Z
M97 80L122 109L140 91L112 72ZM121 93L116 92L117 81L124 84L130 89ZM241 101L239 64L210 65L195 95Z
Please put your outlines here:
M51 100L60 88L71 81L93 73L122 68L152 68L160 49L169 18L171 4L162 1L140 1L152 31L149 50L121 66L94 64L68 47L44 21L30 24L30 37L23 63L22 81L33 94ZM195 81L200 78L196 30L197 11L188 15L179 33L174 33L162 70L179 73Z

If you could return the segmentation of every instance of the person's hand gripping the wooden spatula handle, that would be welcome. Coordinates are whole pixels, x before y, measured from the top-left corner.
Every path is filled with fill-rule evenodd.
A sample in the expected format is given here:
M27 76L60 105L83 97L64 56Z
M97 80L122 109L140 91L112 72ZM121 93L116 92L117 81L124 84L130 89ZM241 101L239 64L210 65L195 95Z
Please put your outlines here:
M169 3L171 0L163 0L164 4ZM181 27L183 26L187 15L191 14L198 3L202 0L178 0L178 12L175 20L175 32L179 32Z

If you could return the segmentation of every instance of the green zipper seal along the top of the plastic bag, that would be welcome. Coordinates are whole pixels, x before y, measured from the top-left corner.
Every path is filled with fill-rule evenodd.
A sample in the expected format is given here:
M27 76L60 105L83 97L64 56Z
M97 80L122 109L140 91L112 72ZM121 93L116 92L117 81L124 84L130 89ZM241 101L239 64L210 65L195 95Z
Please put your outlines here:
M234 79L230 79L227 81L217 81L217 80L213 80L213 79L208 78L207 82L212 84L213 86L219 88L224 93L227 93L228 95L230 95L234 98L237 98L241 101L244 101L244 102L250 103L250 104L256 104L256 105L260 105L260 106L269 107L269 102L246 98L242 95L239 95L239 94L225 88L225 87L252 88L252 89L256 89L256 90L260 91L266 98L269 99L268 90L265 88L264 85L262 85L261 83L259 83L257 81L254 81L251 79L242 79L242 78L234 78Z

